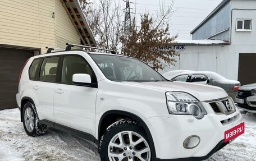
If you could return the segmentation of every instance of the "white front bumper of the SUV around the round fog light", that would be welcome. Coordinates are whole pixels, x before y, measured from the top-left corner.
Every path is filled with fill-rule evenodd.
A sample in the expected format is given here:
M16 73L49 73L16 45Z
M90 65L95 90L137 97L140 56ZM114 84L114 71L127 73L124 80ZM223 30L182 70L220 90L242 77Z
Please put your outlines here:
M208 103L202 103L207 115L202 119L193 116L170 115L145 119L152 134L156 149L153 160L203 160L223 148L225 131L239 125L241 113L215 114ZM193 149L185 149L184 140L192 135L200 137L200 143Z

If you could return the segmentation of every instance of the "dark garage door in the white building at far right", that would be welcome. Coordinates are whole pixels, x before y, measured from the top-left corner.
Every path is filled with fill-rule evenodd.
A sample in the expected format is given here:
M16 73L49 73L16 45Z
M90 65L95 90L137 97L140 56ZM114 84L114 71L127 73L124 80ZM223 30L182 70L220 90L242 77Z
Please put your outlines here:
M239 54L238 80L241 85L256 82L256 53Z

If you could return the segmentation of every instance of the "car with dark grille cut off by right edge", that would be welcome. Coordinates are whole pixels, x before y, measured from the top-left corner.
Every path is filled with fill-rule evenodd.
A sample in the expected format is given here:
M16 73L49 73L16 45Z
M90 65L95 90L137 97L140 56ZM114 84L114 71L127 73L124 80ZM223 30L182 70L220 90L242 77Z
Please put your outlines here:
M240 109L256 113L256 83L241 86L237 91L236 102Z

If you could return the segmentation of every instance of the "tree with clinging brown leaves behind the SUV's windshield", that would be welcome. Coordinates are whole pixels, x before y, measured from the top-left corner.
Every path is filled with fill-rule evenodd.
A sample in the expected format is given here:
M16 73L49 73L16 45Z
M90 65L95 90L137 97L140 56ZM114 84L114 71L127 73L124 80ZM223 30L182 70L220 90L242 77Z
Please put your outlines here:
M173 13L172 6L173 2L167 8L164 8L164 4L160 5L156 17L144 13L141 15L140 27L136 26L136 20L133 19L130 34L121 36L122 54L138 58L156 70L175 65L179 52L170 47L175 45L177 35L170 36L168 25Z

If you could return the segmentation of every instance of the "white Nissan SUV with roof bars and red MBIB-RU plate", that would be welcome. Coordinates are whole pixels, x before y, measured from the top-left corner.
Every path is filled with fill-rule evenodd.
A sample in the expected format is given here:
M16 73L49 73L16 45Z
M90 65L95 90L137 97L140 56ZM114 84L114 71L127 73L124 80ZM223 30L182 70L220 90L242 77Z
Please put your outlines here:
M207 159L243 134L225 90L72 46L31 57L21 71L16 99L29 136L54 127L94 142L102 160L144 161Z

